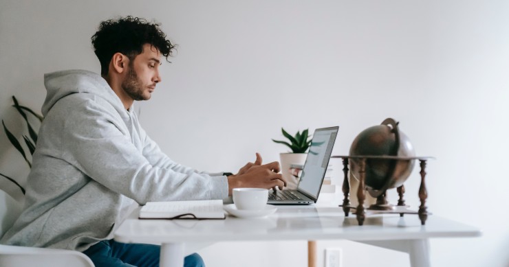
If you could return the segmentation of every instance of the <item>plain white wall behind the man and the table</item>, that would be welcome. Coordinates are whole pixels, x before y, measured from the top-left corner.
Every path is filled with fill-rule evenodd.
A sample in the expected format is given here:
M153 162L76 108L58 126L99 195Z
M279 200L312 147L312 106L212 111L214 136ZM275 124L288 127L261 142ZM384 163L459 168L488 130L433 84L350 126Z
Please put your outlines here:
M233 172L254 152L274 161L285 152L270 141L281 126L339 125L334 154L346 154L358 132L393 117L419 155L437 157L429 211L484 231L433 240L433 266L508 266L507 1L0 0L0 117L19 131L10 96L41 106L45 72L99 71L90 37L103 19L126 14L160 21L179 45L152 100L138 105L144 128L176 161ZM0 170L26 172L3 131ZM418 181L415 172L407 182L411 205ZM305 242L271 244L201 253L208 266L284 258L306 266ZM409 266L402 253L354 242L319 246L342 246L345 266Z

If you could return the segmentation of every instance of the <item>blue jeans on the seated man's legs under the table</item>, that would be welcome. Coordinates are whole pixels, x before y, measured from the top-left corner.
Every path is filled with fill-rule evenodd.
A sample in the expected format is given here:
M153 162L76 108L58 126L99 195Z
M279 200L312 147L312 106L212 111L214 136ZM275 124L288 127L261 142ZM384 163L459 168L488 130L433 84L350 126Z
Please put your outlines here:
M124 244L103 240L83 251L96 267L158 267L161 247L150 244ZM184 267L204 267L197 253L184 258Z

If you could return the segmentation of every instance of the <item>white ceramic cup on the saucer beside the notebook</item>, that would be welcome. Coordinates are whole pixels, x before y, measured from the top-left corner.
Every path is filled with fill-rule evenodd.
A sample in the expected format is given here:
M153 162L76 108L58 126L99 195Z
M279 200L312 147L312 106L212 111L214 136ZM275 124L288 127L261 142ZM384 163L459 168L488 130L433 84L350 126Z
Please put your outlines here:
M263 188L234 188L233 203L237 209L258 210L267 205L269 190Z

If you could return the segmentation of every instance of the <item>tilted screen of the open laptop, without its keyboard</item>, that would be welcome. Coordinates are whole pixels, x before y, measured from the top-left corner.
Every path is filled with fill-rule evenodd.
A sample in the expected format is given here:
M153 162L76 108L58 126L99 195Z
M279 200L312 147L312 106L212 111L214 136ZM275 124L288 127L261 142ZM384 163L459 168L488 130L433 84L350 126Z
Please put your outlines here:
M313 196L315 199L318 198L323 177L327 171L327 165L329 165L336 135L338 135L337 126L316 129L311 141L310 151L307 152L297 189Z

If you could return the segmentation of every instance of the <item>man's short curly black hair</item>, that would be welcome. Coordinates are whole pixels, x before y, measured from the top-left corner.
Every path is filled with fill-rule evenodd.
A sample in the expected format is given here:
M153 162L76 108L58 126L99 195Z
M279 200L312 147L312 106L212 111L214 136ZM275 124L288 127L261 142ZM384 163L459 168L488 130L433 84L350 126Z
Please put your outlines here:
M92 36L94 53L100 62L101 74L108 74L108 67L113 54L122 53L133 60L143 52L143 45L149 43L157 48L168 61L175 45L166 39L166 34L158 23L149 23L145 19L127 16L120 19L102 21L99 29Z

